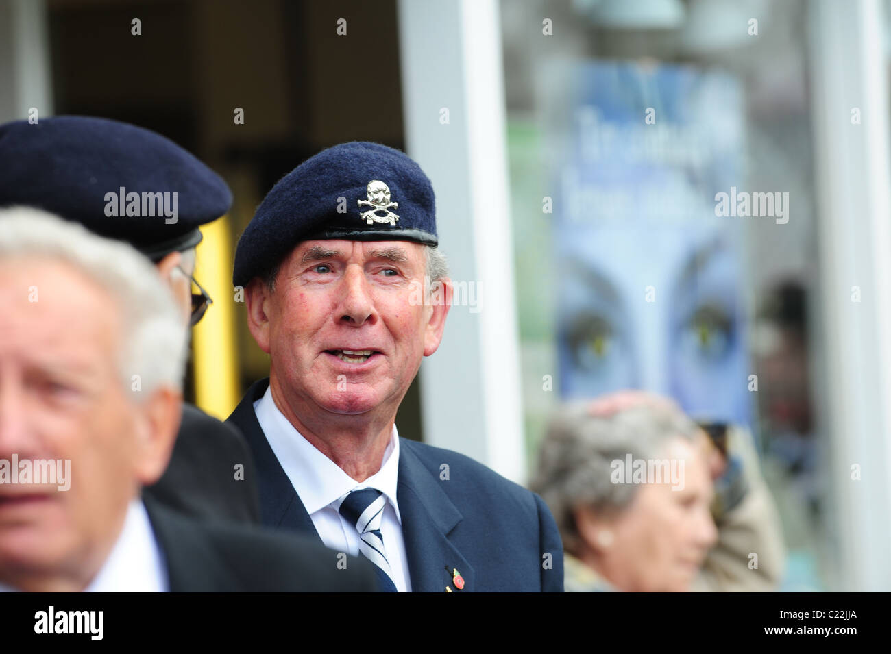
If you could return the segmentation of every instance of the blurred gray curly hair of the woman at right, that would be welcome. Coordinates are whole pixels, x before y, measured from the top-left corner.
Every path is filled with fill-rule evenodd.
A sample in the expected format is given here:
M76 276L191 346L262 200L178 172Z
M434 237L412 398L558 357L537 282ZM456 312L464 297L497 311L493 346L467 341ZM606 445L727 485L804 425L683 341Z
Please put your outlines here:
M594 417L588 412L590 404L571 402L553 414L530 485L551 508L569 553L578 552L576 508L615 512L634 499L636 484L610 479L614 460L625 461L629 454L634 459L656 458L669 441L693 440L699 433L697 424L676 408L642 405Z

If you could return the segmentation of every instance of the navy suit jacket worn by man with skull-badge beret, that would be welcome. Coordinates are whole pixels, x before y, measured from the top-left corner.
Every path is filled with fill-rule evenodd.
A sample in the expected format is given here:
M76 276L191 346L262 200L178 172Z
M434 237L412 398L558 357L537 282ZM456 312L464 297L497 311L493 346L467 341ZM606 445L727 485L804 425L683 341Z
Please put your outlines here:
M227 422L241 429L253 450L263 523L321 542L257 423L253 403L268 385L268 379L253 384ZM396 501L413 591L456 592L457 569L465 582L461 592L562 592L563 545L551 512L541 497L485 465L400 439Z

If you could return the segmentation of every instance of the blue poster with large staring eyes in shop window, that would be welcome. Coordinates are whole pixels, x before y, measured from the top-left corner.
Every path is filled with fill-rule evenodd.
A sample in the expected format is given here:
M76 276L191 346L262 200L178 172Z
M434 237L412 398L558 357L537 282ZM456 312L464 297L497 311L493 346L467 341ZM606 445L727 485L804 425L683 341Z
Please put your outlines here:
M576 89L554 239L561 394L638 388L748 423L742 231L715 216L740 182L738 85L598 63Z

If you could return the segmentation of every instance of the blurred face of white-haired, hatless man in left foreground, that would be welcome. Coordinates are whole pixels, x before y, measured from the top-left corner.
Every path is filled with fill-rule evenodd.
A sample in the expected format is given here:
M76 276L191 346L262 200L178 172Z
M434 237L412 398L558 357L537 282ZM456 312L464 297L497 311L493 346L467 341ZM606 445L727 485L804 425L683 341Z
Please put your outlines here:
M137 493L146 433L119 374L121 322L69 265L0 262L0 459L69 459L70 488L0 483L0 581L77 577Z

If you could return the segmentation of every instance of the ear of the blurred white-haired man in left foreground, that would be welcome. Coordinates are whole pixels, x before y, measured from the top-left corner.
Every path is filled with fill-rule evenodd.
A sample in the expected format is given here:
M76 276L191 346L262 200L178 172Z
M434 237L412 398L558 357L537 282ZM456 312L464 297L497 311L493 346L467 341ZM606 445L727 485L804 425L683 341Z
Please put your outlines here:
M159 480L170 462L183 418L182 393L162 386L137 405L136 478L143 486Z

